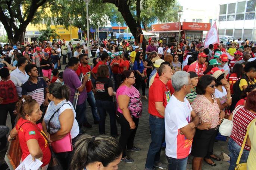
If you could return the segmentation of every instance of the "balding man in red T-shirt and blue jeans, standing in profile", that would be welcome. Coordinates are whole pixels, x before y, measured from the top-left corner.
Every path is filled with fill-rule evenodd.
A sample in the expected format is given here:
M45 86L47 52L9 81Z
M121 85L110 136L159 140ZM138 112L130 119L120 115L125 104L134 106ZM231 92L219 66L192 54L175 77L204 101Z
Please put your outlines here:
M145 169L167 169L167 165L160 162L161 145L165 137L165 107L171 98L171 92L166 85L172 77L172 69L166 64L159 67L159 79L149 88L149 124L152 142L149 145Z

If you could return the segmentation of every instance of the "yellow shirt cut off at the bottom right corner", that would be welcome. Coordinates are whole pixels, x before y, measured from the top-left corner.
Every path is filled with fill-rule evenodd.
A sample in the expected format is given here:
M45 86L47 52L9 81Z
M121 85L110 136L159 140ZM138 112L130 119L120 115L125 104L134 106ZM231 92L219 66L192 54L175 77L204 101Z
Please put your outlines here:
M252 121L248 135L252 143L251 150L247 159L247 170L255 170L256 167L256 119Z

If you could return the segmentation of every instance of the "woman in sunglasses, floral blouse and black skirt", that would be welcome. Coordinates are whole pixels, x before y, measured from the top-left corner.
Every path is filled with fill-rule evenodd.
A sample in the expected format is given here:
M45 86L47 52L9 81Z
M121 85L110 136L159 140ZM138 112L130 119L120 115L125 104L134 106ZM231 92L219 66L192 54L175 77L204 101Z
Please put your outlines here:
M202 123L197 126L192 143L191 155L194 156L193 169L202 170L202 162L206 161L210 166L216 166L212 159L221 159L213 154L213 145L218 133L218 127L225 113L219 109L217 99L214 96L216 79L210 75L200 77L197 86L197 97L191 106L197 113Z

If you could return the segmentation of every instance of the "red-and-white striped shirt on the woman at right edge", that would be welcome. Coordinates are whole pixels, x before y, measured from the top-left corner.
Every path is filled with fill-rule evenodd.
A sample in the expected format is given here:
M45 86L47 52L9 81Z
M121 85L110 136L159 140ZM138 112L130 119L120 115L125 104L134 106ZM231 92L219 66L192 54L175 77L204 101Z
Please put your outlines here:
M244 106L239 108L234 115L233 129L230 137L237 142L239 146L242 146L244 137L247 131L247 126L253 119L256 118L256 114L247 110ZM251 150L251 148L245 143L244 149Z

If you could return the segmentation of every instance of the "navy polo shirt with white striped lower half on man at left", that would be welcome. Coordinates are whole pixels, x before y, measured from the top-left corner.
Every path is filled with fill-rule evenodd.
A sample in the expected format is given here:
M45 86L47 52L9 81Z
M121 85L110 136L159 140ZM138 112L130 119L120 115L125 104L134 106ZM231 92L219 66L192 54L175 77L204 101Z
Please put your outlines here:
M37 78L37 84L32 83L29 79L22 85L21 94L26 96L32 96L37 101L39 106L44 102L44 89L47 88L47 84L42 77Z

